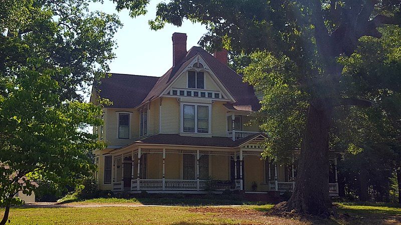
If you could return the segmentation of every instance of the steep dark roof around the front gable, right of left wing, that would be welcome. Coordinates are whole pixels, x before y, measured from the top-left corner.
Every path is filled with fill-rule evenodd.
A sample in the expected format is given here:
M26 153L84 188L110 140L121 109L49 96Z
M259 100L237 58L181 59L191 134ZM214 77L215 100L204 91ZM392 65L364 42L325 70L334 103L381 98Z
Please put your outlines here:
M234 104L226 104L228 109L245 111L257 111L260 109L260 103L255 95L253 87L248 83L244 83L242 76L236 73L226 64L216 59L202 47L197 46L191 47L180 63L170 68L163 76L159 78L154 87L143 99L142 103L158 97L163 90L165 90L167 86L185 69L185 67L197 54L200 54L200 56L205 59L206 63L208 63L223 85L225 85L225 87L237 100L237 102Z

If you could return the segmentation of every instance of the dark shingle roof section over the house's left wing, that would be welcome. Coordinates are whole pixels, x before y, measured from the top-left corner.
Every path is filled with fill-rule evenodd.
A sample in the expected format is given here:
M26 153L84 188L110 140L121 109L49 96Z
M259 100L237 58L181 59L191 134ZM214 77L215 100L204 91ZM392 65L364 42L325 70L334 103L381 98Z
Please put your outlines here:
M113 102L106 107L134 108L146 97L160 77L111 73L97 86L102 98ZM92 96L93 97L93 96ZM91 98L92 98L91 97Z

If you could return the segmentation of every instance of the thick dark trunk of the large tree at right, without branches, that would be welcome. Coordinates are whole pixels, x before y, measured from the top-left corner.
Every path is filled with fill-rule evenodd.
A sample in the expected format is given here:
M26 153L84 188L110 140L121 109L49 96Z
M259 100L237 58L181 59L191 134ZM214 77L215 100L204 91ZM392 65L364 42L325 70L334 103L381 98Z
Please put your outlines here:
M286 210L328 216L330 115L327 108L316 105L321 104L311 103L308 108L295 189Z

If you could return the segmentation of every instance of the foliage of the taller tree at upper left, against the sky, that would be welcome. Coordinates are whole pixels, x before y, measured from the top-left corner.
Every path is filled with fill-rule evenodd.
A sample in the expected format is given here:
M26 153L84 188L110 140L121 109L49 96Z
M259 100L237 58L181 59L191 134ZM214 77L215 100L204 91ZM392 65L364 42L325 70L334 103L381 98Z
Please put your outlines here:
M62 99L80 99L94 77L114 58L113 35L121 26L115 14L89 11L85 0L5 0L0 2L0 75L16 75L27 59L42 58L41 69L54 73ZM0 89L0 91L2 91Z

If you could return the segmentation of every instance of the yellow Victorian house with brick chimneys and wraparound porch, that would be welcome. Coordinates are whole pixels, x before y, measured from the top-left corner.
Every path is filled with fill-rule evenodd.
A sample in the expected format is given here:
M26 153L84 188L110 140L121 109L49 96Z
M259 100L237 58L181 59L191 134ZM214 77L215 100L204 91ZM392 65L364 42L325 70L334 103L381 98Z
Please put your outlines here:
M107 98L104 126L94 132L108 147L95 150L101 189L139 193L291 191L296 168L261 158L268 138L249 125L260 109L254 89L227 66L227 51L186 50L172 35L172 67L161 77L116 74L101 79L91 102ZM330 193L338 193L336 161Z

